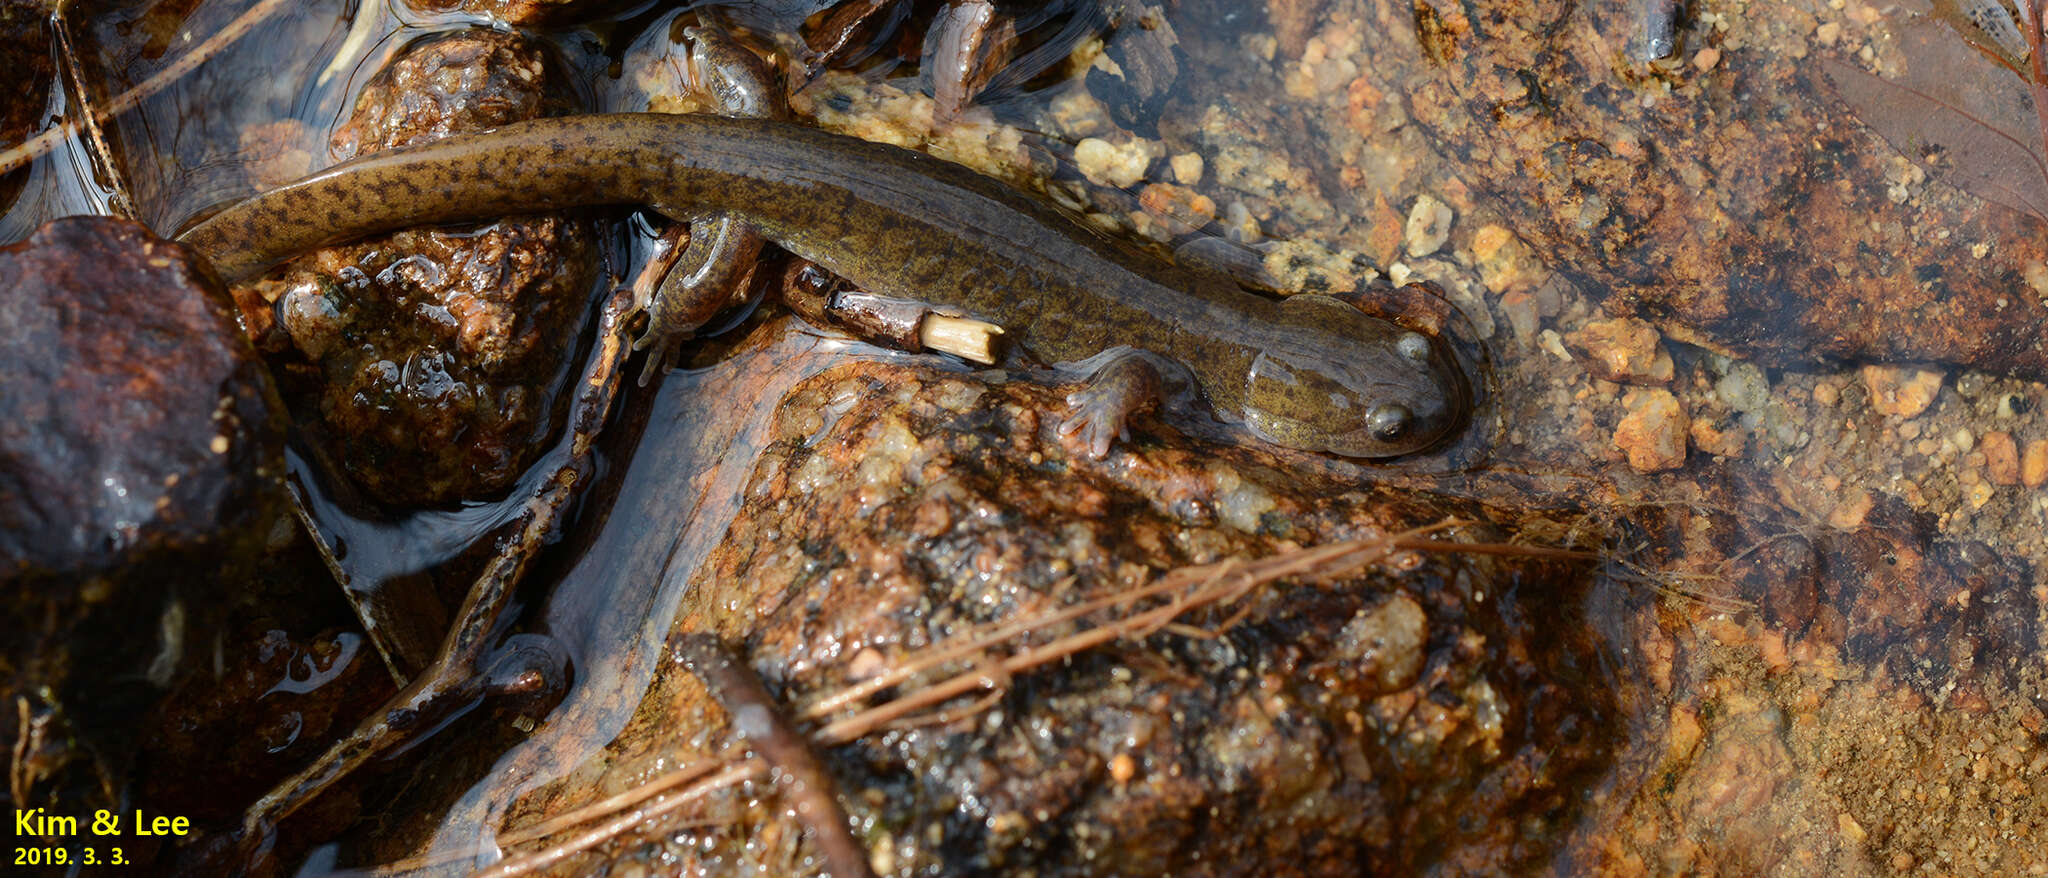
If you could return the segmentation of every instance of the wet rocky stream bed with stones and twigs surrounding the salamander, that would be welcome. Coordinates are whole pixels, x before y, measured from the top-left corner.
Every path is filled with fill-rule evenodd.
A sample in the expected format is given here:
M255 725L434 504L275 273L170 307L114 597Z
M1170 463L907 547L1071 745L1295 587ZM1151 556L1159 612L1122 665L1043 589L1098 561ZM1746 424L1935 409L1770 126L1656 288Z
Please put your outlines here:
M2048 876L2025 4L57 6L0 0L18 866L821 874L836 821L885 876ZM1466 424L1358 460L1184 399L1092 456L1083 375L807 321L774 248L635 385L647 211L231 291L166 242L451 133L705 111L694 29L799 123L1440 334ZM459 704L391 702L492 577Z

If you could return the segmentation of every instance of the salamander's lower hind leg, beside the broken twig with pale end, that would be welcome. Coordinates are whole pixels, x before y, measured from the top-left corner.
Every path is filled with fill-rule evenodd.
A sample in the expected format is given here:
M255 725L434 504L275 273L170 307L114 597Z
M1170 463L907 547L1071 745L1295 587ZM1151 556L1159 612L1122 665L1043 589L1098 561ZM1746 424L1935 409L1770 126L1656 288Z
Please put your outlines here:
M674 266L662 272L662 256L647 264L647 274L635 282L635 295L643 299L639 305L647 311L647 327L633 342L633 350L649 352L641 366L641 387L647 387L657 368L668 372L678 344L741 297L762 244L764 237L752 223L715 213L690 223L690 244L674 258ZM657 272L659 289L643 295L645 278Z

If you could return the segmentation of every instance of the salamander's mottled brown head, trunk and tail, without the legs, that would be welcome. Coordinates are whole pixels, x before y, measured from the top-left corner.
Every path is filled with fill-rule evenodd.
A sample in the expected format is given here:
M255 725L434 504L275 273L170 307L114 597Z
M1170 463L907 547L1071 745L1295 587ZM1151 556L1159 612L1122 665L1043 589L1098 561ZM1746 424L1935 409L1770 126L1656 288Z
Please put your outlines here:
M1464 418L1444 348L1327 297L1272 301L1157 262L967 168L774 121L592 115L348 162L186 231L229 280L377 231L586 205L735 215L854 284L995 321L1047 362L1130 346L1217 415L1346 456L1423 450Z

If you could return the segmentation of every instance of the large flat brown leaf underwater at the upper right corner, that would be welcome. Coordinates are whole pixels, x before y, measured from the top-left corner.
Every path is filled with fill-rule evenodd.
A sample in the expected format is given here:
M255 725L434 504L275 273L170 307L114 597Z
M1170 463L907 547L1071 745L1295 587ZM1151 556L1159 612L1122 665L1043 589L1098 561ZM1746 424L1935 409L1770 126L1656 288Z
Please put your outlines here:
M1927 18L1903 18L1898 47L1898 80L1833 57L1821 65L1894 149L1964 192L2048 221L2048 162L2028 84Z

